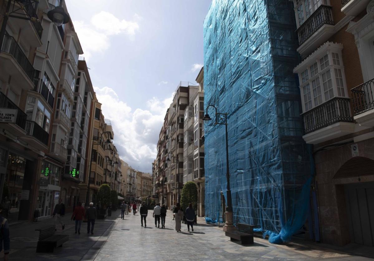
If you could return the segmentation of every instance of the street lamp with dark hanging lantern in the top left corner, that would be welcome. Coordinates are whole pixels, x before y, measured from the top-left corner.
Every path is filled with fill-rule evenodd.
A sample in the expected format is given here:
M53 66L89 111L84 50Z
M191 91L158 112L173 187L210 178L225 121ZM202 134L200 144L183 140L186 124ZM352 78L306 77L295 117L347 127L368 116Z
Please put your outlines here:
M18 13L19 10L25 8L23 4L21 4L21 7L19 7L19 8L17 7L15 9L14 8L14 3L13 3L13 10L12 10L12 12L9 12L10 11L10 6L12 5L12 2L16 2L16 0L13 0L13 1L8 0L7 6L6 6L6 9L5 9L5 13L4 13L3 23L2 23L1 29L0 29L0 53L1 53L1 48L3 46L5 32L6 32L6 25L7 25L10 17L11 18L17 18L17 19L28 20L28 21L32 21L32 22L39 21L39 19L36 16L39 0L30 0L29 4L33 4L33 3L35 4L34 13L33 13L32 17L28 17L27 15L22 16L23 14ZM62 5L62 0L60 2L59 6L56 6L53 10L50 10L47 14L48 18L53 23L55 23L56 26L60 26L64 23L68 23L70 21L69 15L65 12L64 8L62 8L61 5ZM14 13L16 15L12 15L12 13Z

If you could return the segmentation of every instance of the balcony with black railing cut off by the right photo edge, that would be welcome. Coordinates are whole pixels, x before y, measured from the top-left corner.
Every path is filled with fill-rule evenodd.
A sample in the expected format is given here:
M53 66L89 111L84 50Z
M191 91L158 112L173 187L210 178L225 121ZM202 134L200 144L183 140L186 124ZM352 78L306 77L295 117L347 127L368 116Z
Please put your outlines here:
M351 90L354 119L361 126L374 127L374 79Z

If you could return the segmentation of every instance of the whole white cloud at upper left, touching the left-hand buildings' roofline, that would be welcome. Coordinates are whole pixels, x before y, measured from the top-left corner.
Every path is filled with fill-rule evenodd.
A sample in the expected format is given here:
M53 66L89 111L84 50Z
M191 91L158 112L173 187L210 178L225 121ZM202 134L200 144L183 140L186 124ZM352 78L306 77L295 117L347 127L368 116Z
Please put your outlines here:
M92 16L91 23L74 21L74 28L83 48L83 56L89 60L93 53L104 53L110 47L111 35L126 34L130 40L134 40L139 25L101 11Z

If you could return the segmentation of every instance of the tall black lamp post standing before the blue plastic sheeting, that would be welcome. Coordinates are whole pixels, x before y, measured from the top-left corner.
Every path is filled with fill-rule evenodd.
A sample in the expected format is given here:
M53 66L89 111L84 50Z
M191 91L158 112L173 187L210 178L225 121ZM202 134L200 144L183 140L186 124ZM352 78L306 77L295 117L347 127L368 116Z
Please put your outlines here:
M203 117L203 120L212 120L212 118L208 114L209 107L213 107L215 109L215 124L225 125L226 130L226 180L227 180L227 205L226 205L226 223L223 227L223 231L232 231L235 230L233 224L233 208L232 208L232 200L231 200L231 190L230 190L230 170L229 170L229 141L227 138L227 113L218 113L217 108L214 105L209 105L206 107L206 114Z

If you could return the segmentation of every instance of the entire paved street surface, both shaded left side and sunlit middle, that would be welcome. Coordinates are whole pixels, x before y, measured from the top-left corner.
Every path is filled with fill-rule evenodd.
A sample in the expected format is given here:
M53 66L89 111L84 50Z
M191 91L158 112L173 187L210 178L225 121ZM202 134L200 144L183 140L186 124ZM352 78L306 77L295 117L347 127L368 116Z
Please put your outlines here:
M150 211L151 212L151 211ZM252 246L241 246L230 242L222 228L204 224L199 218L194 232L188 233L182 224L182 233L174 230L174 221L169 211L166 228L154 227L154 219L148 215L147 228L140 226L140 216L125 216L120 211L107 220L97 220L94 235L86 234L86 223L82 234L74 234L74 223L65 216L66 227L58 234L67 234L69 241L54 253L37 254L37 227L52 224L47 218L37 223L21 223L10 226L10 260L373 260L372 248L350 244L345 248L334 248L324 244L293 242L288 245L273 245L267 240L255 238ZM346 251L346 252L344 252ZM366 258L367 256L371 258Z

